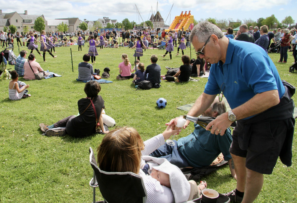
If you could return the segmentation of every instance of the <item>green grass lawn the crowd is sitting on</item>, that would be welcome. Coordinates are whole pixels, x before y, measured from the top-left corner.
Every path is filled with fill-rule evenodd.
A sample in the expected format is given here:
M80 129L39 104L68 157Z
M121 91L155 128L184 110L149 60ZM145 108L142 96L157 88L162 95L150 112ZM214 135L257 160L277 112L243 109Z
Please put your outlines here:
M30 84L28 88L30 98L19 101L8 99L9 80L0 81L0 202L92 202L92 189L89 181L93 175L89 164L89 147L94 150L100 144L104 135L93 135L87 138L75 139L65 137L42 136L39 123L52 125L69 115L77 115L77 101L86 97L83 88L85 83L77 82L78 63L82 62L83 54L88 52L85 46L78 52L78 46L71 46L73 67L69 47L58 47L58 57L53 59L46 54L43 62L36 51L37 62L44 70L50 70L62 77L43 80L19 80ZM20 50L22 48L20 47ZM176 48L175 51L176 52ZM18 49L15 54L18 56ZM101 72L105 67L110 68L113 83L101 84L99 93L105 101L105 112L113 117L116 125L132 126L138 130L143 140L147 140L165 130L165 123L171 118L184 115L187 112L176 109L184 104L195 102L203 92L207 78L200 78L199 82L184 84L161 82L159 89L137 90L132 80L116 80L119 74L118 65L122 62L121 54L127 53L131 63L134 63L134 49L122 47L119 49L105 48L99 51L94 68ZM141 62L145 66L150 64L151 54L157 54L161 74L166 73L165 66L179 67L179 56L173 54L163 59L165 50L147 49ZM297 74L289 73L289 66L293 62L292 52L288 52L288 63L281 64L279 54L269 54L281 79L297 86ZM190 55L190 49L185 50ZM195 51L192 49L192 58ZM13 68L7 65L7 68ZM158 109L158 98L167 99L165 109ZM297 98L297 94L294 96ZM110 130L113 128L110 128ZM193 131L193 124L183 130L179 136L187 136ZM297 133L297 130L295 130ZM255 202L297 202L297 169L296 169L296 136L293 141L293 165L286 167L280 160L272 175L264 175L264 186ZM223 167L203 178L208 188L224 193L235 189L234 180L229 167ZM103 200L97 192L97 201Z

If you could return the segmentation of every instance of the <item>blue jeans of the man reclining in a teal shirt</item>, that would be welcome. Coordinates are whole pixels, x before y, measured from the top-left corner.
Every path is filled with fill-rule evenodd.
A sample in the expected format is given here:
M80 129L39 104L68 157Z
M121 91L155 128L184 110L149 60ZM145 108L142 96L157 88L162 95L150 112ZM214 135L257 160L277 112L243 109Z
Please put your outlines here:
M173 165L177 167L189 167L188 161L185 159L184 155L182 155L178 151L177 141L173 140L175 145L171 146L169 144L164 144L160 146L157 150L150 154L152 157L165 158Z

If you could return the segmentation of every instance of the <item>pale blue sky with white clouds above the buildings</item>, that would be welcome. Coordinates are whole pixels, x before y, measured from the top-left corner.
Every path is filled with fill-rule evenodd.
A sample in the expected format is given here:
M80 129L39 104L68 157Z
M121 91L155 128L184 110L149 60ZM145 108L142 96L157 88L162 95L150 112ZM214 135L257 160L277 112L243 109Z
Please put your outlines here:
M89 0L83 3L79 0L40 0L37 2L0 0L1 9L4 13L14 11L24 13L24 10L28 10L28 14L44 14L46 19L79 17L80 20L97 20L98 18L109 17L119 22L127 17L130 21L134 20L139 23L142 20L139 20L139 16L136 14L135 4L143 20L149 19L151 9L156 13L157 1L155 0L113 0L104 1L102 4L97 0ZM168 16L172 4L174 5ZM297 22L296 0L287 0L285 2L279 0L163 0L159 1L158 10L164 20L166 20L168 16L166 24L169 25L174 17L179 15L181 11L189 10L191 10L191 14L194 15L196 20L206 19L208 17L226 20L231 18L234 21L237 19L244 21L244 19L249 18L257 20L259 17L265 18L274 14L279 21L282 21L286 16L290 15L295 20L295 24Z

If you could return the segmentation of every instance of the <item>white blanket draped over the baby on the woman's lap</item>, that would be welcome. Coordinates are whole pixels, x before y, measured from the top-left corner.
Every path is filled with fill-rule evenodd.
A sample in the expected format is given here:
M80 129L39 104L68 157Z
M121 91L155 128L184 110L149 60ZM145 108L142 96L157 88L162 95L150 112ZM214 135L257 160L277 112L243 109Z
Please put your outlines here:
M187 202L190 195L190 184L181 170L165 158L142 156L150 167L169 175L171 190L176 203Z

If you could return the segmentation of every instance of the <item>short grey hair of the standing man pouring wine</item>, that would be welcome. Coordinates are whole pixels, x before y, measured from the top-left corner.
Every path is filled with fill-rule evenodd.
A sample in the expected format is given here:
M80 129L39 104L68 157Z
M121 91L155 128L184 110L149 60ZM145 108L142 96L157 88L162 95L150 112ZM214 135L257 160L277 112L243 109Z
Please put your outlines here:
M208 37L213 34L219 39L224 36L224 33L217 27L217 25L208 21L199 22L198 25L195 25L190 34L190 43L192 43L194 37L196 37L199 42L206 42Z

